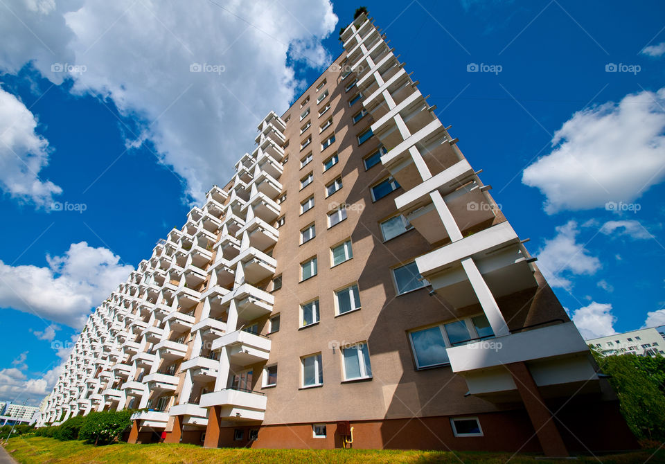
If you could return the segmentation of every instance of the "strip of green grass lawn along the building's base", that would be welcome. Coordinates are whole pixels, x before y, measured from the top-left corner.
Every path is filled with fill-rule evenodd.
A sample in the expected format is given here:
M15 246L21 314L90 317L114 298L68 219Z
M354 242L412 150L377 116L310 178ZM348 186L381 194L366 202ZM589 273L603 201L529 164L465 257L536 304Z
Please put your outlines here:
M376 449L204 449L196 445L116 445L94 447L80 441L58 441L54 438L12 438L6 448L21 464L79 463L484 463L514 464L570 461L542 461L508 453L392 451ZM584 456L576 463L665 464L665 450L643 450L611 456Z

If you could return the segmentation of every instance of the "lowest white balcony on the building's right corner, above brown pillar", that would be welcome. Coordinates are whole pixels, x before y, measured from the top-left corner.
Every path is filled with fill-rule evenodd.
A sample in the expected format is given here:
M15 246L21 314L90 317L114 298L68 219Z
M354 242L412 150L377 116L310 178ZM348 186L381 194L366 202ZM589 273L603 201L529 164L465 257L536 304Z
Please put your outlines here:
M574 323L531 328L504 337L447 348L454 373L469 393L493 402L517 398L506 364L524 362L545 398L599 390L589 347Z

